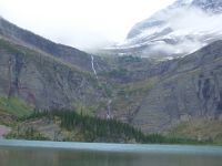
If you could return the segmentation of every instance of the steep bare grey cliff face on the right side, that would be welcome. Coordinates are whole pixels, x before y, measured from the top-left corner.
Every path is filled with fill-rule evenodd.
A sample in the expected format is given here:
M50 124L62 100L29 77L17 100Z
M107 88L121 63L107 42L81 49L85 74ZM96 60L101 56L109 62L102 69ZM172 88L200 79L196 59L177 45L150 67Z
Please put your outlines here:
M222 115L222 41L178 61L144 97L133 124L162 132L191 117Z

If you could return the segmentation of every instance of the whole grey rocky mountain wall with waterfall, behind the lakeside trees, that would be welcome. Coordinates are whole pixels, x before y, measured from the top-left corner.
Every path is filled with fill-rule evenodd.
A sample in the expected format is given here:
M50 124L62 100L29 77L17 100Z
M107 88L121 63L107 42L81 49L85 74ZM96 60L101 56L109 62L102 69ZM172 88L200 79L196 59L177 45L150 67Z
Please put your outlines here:
M180 6L186 6L185 2L190 4L190 1L183 1ZM186 123L195 124L196 120L201 122L198 123L201 124L199 132L214 125L220 128L222 41L213 41L186 56L160 60L91 55L53 43L1 19L0 124L26 128L40 123L34 129L41 133L46 132L42 128L48 122L44 117L38 122L27 120L24 124L21 121L37 111L71 110L81 115L114 118L144 133L179 134L178 127L182 125L183 131L189 131ZM57 116L53 122L49 121L49 133L62 132ZM81 122L79 126L81 128ZM206 136L202 138L208 139L211 131L204 132ZM221 134L216 131L210 138L221 143Z

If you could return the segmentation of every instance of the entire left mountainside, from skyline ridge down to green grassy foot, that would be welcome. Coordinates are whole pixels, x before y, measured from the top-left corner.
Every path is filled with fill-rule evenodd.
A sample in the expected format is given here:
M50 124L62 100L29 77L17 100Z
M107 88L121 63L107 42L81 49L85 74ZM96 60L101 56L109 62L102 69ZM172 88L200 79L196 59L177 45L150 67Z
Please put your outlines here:
M18 116L33 108L95 112L105 102L94 76L103 66L99 56L0 19L0 111Z

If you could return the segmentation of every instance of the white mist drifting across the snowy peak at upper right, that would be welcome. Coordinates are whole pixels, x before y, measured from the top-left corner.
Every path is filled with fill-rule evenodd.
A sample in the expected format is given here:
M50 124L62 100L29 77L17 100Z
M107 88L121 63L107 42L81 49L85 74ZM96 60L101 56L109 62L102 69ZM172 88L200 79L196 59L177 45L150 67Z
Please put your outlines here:
M144 50L147 56L163 52L169 56L173 54L185 55L210 42L222 39L222 14L213 14L199 8L174 8L158 12L154 17L158 20L164 20L165 23L144 30L139 38L152 35L167 28L170 28L171 32L157 38L155 44L150 41L151 46ZM164 42L165 39L173 41L173 43Z

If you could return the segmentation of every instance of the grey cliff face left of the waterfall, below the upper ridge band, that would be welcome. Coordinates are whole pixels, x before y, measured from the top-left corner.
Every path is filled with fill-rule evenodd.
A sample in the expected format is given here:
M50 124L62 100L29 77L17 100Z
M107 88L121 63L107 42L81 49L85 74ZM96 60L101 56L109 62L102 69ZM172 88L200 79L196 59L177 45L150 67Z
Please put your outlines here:
M100 104L94 76L59 59L0 39L0 64L1 97L18 97L40 110L94 112Z

